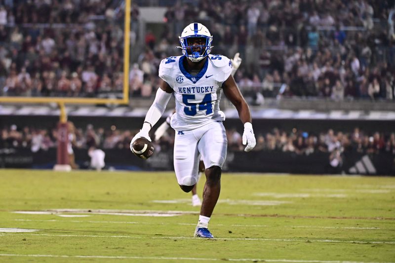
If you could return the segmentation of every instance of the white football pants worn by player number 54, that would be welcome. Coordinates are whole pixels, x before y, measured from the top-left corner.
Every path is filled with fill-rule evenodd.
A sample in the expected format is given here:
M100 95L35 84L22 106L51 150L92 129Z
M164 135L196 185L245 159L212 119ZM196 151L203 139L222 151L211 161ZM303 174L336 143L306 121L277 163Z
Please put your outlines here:
M174 140L174 170L178 184L193 186L198 180L200 155L204 166L222 166L228 148L225 127L215 121L195 130L177 131Z

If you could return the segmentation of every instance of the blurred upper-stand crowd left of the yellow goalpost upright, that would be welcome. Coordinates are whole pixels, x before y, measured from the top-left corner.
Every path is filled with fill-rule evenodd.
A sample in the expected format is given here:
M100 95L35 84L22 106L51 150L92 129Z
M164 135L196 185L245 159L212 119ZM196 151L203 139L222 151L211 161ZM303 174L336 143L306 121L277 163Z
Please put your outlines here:
M122 19L112 0L0 1L0 94L122 90Z

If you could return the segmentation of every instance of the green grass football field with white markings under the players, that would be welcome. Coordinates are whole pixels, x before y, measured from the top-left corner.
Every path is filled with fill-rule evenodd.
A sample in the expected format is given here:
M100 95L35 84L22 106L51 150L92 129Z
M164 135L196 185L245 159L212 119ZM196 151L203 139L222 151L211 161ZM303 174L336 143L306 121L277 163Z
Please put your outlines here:
M224 173L198 213L169 172L0 169L0 262L395 262L391 177Z

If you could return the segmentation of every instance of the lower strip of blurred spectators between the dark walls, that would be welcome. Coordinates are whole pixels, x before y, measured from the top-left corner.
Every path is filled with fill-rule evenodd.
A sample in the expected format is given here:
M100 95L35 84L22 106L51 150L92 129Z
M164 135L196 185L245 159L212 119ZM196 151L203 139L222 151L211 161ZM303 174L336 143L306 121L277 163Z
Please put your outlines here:
M72 134L70 143L79 149L129 149L130 138L138 130L119 130L115 125L109 129L94 128L89 124L85 129L74 127L69 123ZM242 151L241 134L236 128L227 130L228 148L231 151ZM1 129L0 148L30 148L33 152L48 150L56 147L57 129L38 129L33 127L6 126ZM154 138L154 137L152 137ZM309 133L297 130L285 131L274 128L271 132L256 135L255 151L288 151L295 154L306 154L320 151L333 152L335 150L355 150L360 153L379 154L391 152L395 155L395 133L388 134L374 132L366 133L359 128L352 132L323 131ZM170 129L158 142L156 151L172 151L174 145L174 131Z

